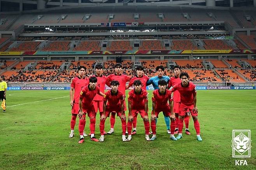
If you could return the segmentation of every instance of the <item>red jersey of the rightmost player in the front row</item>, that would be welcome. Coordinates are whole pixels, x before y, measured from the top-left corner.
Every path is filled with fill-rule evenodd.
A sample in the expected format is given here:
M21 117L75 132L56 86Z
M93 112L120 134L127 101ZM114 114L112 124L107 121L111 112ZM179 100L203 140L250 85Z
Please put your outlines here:
M189 82L187 87L183 87L182 83L174 85L172 92L178 90L181 94L181 103L185 105L192 105L194 102L194 94L196 93L196 86Z

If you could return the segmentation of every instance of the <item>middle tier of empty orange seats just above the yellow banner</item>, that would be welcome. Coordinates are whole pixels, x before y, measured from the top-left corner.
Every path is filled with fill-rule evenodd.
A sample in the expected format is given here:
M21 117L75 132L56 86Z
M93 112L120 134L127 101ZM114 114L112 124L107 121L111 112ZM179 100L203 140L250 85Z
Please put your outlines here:
M51 37L55 41L38 41L39 38L33 38L30 41L26 37L19 38L23 41L8 42L5 45L0 44L0 51L127 51L127 50L239 50L256 49L255 36L240 36L238 39L195 39L195 40L70 40L72 37ZM75 38L75 37L74 37ZM186 38L186 37L182 37ZM49 38L50 39L50 38ZM58 41L59 39L60 41ZM90 38L89 38L90 39ZM27 40L27 41L25 41ZM57 40L57 41L56 41ZM66 40L66 41L64 41ZM136 42L135 42L136 41ZM138 48L139 47L139 48Z

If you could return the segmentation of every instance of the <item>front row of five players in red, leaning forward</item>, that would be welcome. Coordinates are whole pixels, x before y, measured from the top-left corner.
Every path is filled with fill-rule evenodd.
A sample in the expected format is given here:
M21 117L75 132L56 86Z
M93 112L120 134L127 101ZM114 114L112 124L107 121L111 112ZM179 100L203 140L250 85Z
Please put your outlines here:
M105 120L109 117L110 113L115 112L120 117L122 123L122 140L130 141L132 139L132 122L134 118L137 118L137 114L140 113L145 127L145 138L147 141L154 141L156 139L156 118L160 112L165 113L165 116L170 118L170 139L177 141L182 138L182 128L184 116L189 111L192 115L194 126L196 130L196 137L198 141L202 141L200 136L200 124L198 122L198 109L196 107L196 87L193 83L188 82L188 73L181 73L181 83L173 86L172 90L167 90L167 82L165 80L158 81L159 89L153 91L152 95L152 112L151 112L151 129L153 135L149 138L149 118L148 118L148 98L146 90L142 89L142 82L135 80L133 82L134 90L130 90L128 94L128 138L126 139L126 117L124 114L124 94L118 90L119 82L112 80L110 82L111 90L107 91L105 95L100 92L100 88L96 86L97 78L91 76L89 78L89 85L82 88L80 99L79 99L79 143L84 142L84 125L85 125L85 114L87 113L90 118L90 131L91 141L103 142L104 141L104 127ZM173 111L172 92L179 91L181 95L181 104L179 107L179 135L174 136L175 131L175 114ZM96 112L93 106L93 98L96 94L103 96L103 113L100 117L100 139L96 139L95 134L95 116ZM74 128L73 128L74 129ZM74 134L74 131L73 131Z

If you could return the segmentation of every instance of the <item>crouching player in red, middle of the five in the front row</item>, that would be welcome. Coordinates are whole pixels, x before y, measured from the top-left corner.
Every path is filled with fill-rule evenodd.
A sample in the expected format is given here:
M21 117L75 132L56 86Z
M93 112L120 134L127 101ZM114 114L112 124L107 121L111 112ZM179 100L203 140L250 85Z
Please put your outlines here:
M147 115L147 91L141 88L142 82L135 80L133 82L134 90L131 90L128 94L128 109L129 117L127 123L128 138L127 141L132 139L132 122L133 118L137 118L138 113L144 121L144 127L146 131L146 140L150 141L149 138L149 118Z

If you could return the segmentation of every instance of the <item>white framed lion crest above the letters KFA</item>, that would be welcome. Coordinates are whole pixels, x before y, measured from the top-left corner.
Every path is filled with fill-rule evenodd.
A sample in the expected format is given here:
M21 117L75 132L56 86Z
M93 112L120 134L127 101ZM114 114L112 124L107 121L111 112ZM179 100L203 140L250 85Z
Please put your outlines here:
M251 130L233 130L233 158L251 158Z

